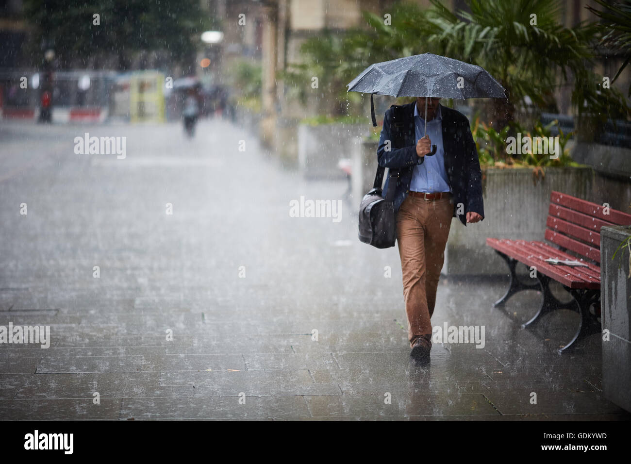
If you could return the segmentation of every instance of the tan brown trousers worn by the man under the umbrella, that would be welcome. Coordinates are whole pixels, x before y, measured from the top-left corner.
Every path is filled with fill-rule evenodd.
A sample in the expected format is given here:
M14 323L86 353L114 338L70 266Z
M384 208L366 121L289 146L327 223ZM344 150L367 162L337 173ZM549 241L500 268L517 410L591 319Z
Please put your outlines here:
M430 318L453 214L448 194L437 200L408 196L396 215L410 346L418 336L432 333Z

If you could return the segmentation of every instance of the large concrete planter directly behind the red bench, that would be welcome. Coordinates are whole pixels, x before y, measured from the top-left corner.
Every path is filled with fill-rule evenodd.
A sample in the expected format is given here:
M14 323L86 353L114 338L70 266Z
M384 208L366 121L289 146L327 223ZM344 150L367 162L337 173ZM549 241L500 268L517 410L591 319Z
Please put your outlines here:
M485 219L464 227L453 219L445 250L443 273L447 275L497 275L506 265L487 237L545 239L550 192L557 190L578 198L589 198L593 171L582 167L545 169L544 179L535 179L533 170L483 169Z

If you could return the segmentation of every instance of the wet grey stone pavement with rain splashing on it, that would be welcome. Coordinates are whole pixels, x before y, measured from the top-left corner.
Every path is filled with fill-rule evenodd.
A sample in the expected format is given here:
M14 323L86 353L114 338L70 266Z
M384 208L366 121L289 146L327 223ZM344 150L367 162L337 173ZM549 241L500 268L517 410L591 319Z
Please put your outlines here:
M126 158L74 153L86 132L125 136ZM484 326L484 346L411 363L396 248L358 241L345 181L304 181L245 129L0 138L0 326L50 326L50 348L0 345L3 419L630 419L598 335L555 352L577 314L531 332L536 292L492 307L507 276L443 277L432 324ZM339 221L292 217L301 196Z

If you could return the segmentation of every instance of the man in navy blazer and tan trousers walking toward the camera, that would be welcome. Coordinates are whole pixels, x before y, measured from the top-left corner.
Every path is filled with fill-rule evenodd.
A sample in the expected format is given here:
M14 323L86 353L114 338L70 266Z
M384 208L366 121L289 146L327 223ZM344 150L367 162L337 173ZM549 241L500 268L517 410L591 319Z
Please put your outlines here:
M440 98L417 97L386 111L377 158L380 166L398 174L392 188L410 356L427 364L451 218L464 225L484 218L478 152L466 116L440 105Z

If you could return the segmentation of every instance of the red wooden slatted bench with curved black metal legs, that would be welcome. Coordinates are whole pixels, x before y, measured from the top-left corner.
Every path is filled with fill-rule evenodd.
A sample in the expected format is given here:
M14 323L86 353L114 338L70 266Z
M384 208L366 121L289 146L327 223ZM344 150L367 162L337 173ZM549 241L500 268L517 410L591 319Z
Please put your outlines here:
M522 324L522 328L533 328L543 314L555 309L572 309L581 314L581 323L574 338L557 350L559 354L577 340L600 332L600 228L603 225L631 225L631 215L553 191L545 238L555 246L538 241L488 238L487 245L495 249L510 270L509 289L493 306L504 304L517 292L534 289L541 291L543 302L537 314ZM574 256L567 251L573 252ZM580 261L586 266L555 265L546 261L550 258ZM517 263L529 268L534 266L536 282L521 282L515 272ZM570 302L562 302L552 294L551 280L562 283L563 288L570 292ZM594 313L590 311L592 307Z

